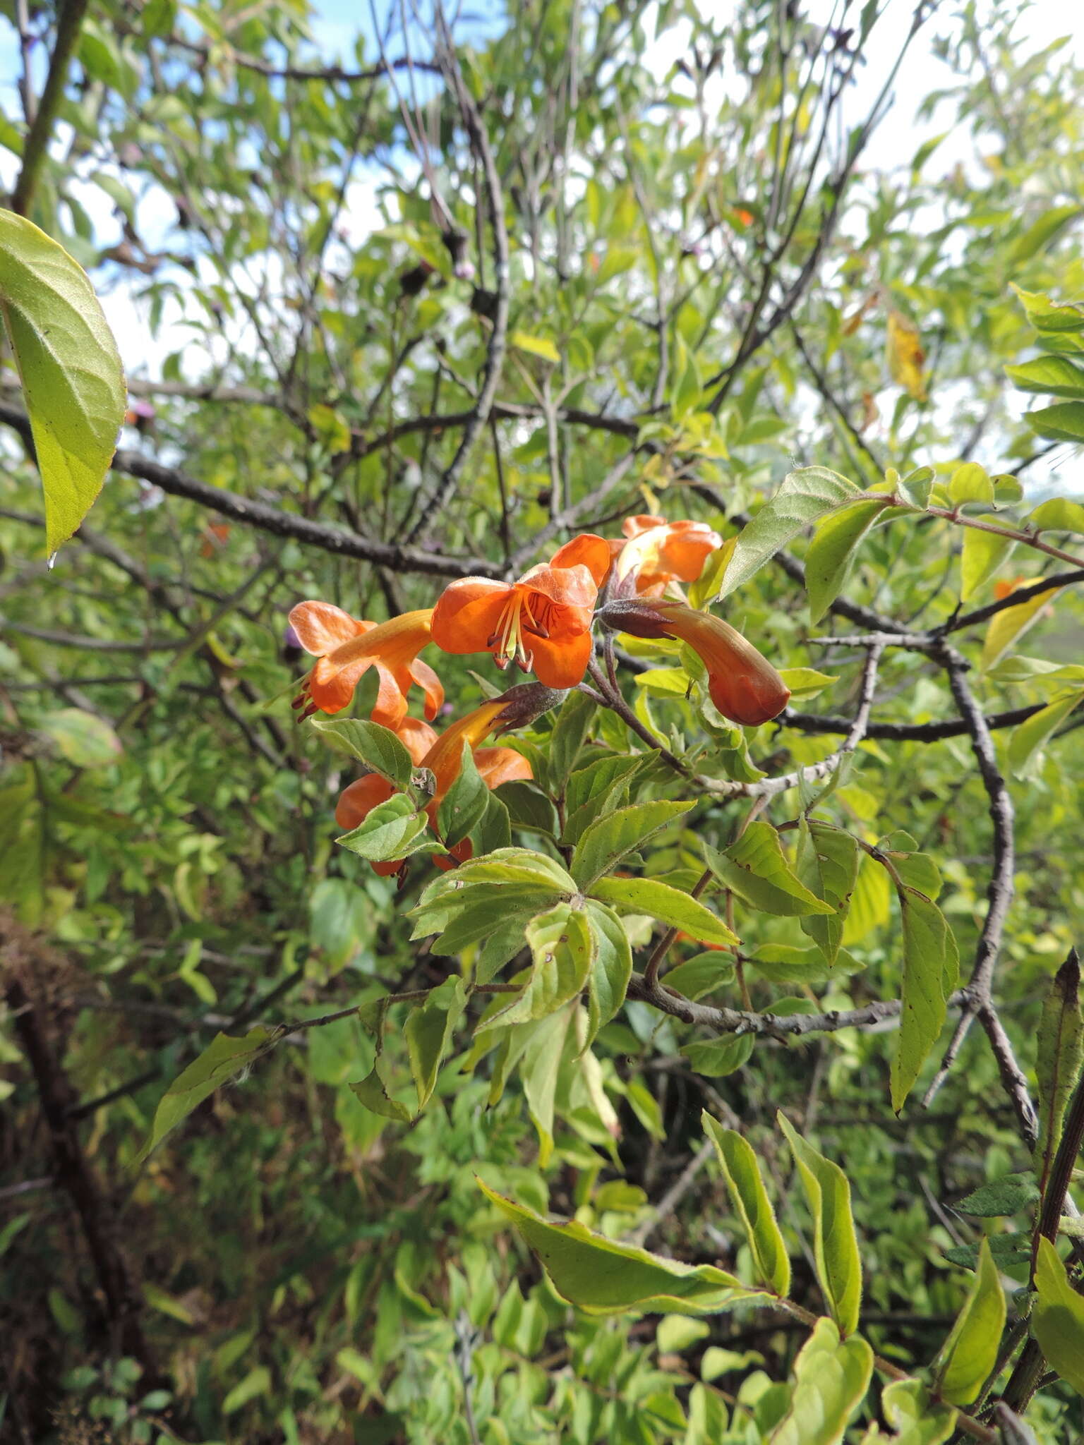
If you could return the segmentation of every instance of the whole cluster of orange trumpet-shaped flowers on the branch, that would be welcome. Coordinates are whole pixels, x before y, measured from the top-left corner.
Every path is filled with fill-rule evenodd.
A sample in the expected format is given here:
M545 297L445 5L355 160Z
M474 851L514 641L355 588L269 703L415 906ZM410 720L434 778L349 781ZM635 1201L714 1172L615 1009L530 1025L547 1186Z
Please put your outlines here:
M708 556L723 545L702 522L629 517L624 536L606 539L584 533L559 548L549 562L532 566L517 582L464 577L451 582L435 607L402 613L386 623L357 621L328 603L299 603L289 616L301 646L317 657L293 702L299 717L341 712L361 676L376 668L379 688L371 720L397 734L419 767L428 767L436 808L458 776L463 744L468 743L478 773L490 788L515 777L529 779L530 764L507 747L481 747L493 733L510 725L506 699L476 708L439 737L419 718L408 717L412 685L425 695L425 717L436 717L444 702L441 681L418 653L435 643L448 653L487 652L499 668L516 663L533 670L546 688L574 688L591 660L591 626L598 618L611 631L636 637L676 637L701 657L708 692L733 722L767 722L786 707L789 692L775 668L746 639L710 613L668 597L672 584L694 582ZM377 775L351 783L335 809L343 828L357 828L392 785ZM463 861L470 841L452 850ZM444 866L451 867L447 860ZM402 864L374 864L395 873Z

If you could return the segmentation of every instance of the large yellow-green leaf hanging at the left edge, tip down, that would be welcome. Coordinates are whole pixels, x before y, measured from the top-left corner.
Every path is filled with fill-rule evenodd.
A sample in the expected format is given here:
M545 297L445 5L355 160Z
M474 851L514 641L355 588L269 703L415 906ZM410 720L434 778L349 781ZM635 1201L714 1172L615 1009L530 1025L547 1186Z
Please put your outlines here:
M77 262L45 231L0 211L0 315L12 342L55 552L101 491L127 389L117 345Z

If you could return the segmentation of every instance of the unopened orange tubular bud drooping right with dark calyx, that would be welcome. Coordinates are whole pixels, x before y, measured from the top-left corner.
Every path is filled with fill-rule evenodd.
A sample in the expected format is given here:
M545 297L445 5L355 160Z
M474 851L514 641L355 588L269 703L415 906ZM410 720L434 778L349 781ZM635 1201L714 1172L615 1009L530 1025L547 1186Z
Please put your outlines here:
M786 707L791 689L783 679L767 657L721 617L662 597L610 603L598 616L613 631L687 642L708 669L711 701L731 722L757 727L779 717Z

